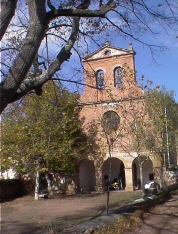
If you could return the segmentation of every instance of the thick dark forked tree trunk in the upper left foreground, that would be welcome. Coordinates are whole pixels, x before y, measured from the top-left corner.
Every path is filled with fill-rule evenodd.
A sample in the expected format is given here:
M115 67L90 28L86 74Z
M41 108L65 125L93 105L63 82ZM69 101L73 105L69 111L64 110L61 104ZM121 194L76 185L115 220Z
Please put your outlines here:
M56 59L50 64L48 70L35 79L24 79L32 65L41 41L44 38L47 27L45 1L29 1L29 12L31 15L26 39L19 55L14 60L13 66L5 76L0 87L0 113L9 103L17 101L32 89L39 88L46 83L56 71L58 71L64 61L68 61L71 56L71 49L77 40L80 18L73 19L72 32L66 45L58 53ZM38 13L38 14L34 14ZM43 16L41 18L41 16ZM10 91L9 91L10 90Z

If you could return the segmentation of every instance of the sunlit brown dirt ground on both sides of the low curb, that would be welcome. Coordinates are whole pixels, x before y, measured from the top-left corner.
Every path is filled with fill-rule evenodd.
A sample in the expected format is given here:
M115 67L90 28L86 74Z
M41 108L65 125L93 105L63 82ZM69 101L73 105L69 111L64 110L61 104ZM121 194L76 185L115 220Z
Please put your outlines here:
M124 206L130 197L128 192L114 191L110 194L112 204ZM118 197L120 201L118 202ZM51 227L59 231L64 227L94 219L105 214L106 194L90 194L34 201L32 197L18 198L4 202L1 206L2 234L47 233ZM116 208L113 205L111 210ZM57 224L57 225L56 225ZM44 228L45 227L45 228ZM60 228L60 229L59 229ZM49 233L49 232L48 232ZM127 234L169 234L178 233L178 195L174 195L162 205L152 208L142 225ZM104 234L104 233L103 233Z

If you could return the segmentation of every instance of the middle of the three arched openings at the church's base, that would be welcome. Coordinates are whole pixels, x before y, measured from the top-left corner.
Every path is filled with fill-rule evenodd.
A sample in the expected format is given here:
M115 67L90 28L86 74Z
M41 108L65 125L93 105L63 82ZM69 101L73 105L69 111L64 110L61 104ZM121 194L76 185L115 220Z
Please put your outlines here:
M103 187L106 185L106 182L109 178L109 170L110 170L110 160L111 160L111 183L114 180L117 180L119 177L122 178L122 185L123 188L125 189L126 187L126 182L125 182L125 166L123 162L118 159L118 158L111 158L107 159L103 163L102 167L102 184Z

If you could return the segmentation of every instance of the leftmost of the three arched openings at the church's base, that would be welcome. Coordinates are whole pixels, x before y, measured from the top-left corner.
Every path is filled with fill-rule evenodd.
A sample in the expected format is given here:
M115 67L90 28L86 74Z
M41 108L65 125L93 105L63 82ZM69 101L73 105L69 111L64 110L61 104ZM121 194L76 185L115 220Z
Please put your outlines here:
M96 186L94 163L85 159L79 164L79 186L80 191L94 191Z

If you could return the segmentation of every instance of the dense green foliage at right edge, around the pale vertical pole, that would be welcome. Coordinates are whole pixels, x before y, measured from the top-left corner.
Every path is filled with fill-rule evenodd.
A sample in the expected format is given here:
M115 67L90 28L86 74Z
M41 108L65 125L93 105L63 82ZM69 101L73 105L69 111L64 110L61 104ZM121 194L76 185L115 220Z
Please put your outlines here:
M178 104L173 95L173 92L167 92L165 88L151 90L146 94L146 107L151 120L147 147L161 154L166 152L168 146L170 152L176 154Z

